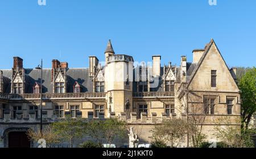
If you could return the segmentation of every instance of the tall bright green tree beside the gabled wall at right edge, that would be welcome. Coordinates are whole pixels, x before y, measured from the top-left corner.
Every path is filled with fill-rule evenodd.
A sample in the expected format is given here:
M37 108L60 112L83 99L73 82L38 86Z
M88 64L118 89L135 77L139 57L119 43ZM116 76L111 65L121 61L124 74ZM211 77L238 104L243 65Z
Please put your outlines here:
M238 85L241 90L241 128L247 130L251 116L256 111L256 68L253 67L247 71Z

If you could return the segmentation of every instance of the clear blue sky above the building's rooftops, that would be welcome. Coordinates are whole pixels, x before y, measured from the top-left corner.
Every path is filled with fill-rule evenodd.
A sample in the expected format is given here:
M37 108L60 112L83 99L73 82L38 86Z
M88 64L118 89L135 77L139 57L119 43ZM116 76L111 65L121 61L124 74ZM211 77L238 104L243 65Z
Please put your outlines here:
M0 0L0 68L13 57L25 68L44 60L88 67L88 56L104 60L109 39L116 54L135 61L162 55L162 65L192 61L192 50L213 38L226 63L255 66L256 1L217 0Z

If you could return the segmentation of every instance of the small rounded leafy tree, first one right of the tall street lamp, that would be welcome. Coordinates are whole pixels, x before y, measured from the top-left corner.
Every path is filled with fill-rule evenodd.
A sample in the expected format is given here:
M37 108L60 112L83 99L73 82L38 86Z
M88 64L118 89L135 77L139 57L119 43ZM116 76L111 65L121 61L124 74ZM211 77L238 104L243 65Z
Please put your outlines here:
M72 148L73 140L81 139L85 134L85 123L81 118L71 118L70 115L65 115L64 119L52 124L52 129L61 140L69 142Z

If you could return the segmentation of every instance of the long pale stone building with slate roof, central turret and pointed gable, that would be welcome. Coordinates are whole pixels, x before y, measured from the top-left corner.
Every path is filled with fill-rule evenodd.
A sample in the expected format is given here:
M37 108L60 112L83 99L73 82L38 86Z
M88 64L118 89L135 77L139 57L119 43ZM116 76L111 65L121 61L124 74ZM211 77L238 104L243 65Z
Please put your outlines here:
M193 62L185 56L180 66L161 66L160 61L160 55L152 55L151 63L136 63L116 54L109 41L104 66L95 56L89 57L89 68L69 68L53 59L52 68L43 68L40 85L41 71L24 68L23 59L14 57L13 68L0 71L0 147L33 147L25 133L39 126L40 115L44 125L69 113L72 118L119 117L140 127L144 143L150 143L154 124L198 113L191 108L203 110L208 139L216 118L228 117L240 126L235 120L240 118L236 68L228 68L213 40L193 50Z

